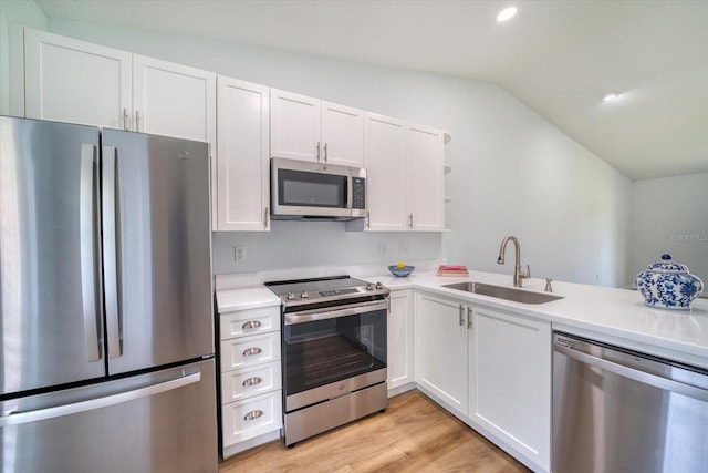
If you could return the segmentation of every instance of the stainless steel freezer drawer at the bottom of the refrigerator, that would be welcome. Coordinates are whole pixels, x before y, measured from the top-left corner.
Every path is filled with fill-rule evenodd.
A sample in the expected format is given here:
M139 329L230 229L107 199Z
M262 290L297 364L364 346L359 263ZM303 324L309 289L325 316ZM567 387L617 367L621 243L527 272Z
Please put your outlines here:
M215 361L0 404L3 473L217 471Z

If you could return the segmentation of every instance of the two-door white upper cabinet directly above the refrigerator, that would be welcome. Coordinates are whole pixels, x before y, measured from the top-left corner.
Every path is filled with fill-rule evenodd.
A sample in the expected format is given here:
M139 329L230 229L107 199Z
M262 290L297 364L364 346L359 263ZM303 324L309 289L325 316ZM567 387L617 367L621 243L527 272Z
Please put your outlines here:
M24 29L25 115L216 143L216 74Z

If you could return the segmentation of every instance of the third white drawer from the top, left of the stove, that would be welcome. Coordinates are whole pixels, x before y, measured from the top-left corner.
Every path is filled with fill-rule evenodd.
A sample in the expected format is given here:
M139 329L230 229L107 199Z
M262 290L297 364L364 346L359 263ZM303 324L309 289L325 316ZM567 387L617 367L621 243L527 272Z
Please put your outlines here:
M228 371L221 374L221 399L233 402L280 389L280 361Z

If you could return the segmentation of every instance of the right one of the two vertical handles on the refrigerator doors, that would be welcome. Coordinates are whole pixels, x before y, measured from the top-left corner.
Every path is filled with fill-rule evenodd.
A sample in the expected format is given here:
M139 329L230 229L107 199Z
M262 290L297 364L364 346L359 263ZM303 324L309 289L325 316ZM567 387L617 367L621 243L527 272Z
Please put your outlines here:
M103 146L102 199L103 209L103 269L106 306L106 332L108 335L108 357L123 354L121 337L121 315L118 308L118 264L116 234L116 168L115 146Z

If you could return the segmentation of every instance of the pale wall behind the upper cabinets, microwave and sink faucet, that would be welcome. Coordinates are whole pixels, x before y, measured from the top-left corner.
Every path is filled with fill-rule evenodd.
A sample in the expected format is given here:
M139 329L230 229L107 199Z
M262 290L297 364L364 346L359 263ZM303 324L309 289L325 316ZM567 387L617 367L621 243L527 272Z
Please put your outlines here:
M347 234L342 224L277 223L270 234L215 235L215 269L239 273L365 260L447 259L511 274L496 264L501 239L519 237L534 276L625 284L631 183L500 88L437 74L343 62L183 37L50 20L59 34L447 130L450 233ZM398 254L406 239L408 254ZM379 251L381 243L387 253ZM232 246L247 246L235 263ZM392 248L393 246L393 248ZM508 261L513 261L511 249Z

